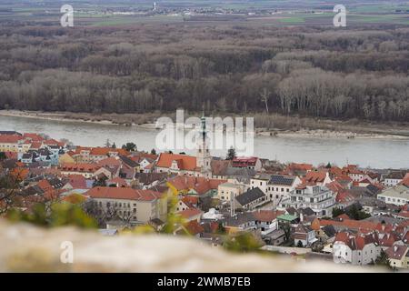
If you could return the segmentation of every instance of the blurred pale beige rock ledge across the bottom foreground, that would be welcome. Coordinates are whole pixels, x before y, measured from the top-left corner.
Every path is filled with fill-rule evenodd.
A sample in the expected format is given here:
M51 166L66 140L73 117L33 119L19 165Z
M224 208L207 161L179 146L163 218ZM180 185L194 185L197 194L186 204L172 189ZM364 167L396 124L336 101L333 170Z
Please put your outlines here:
M61 263L64 241L73 243L73 264ZM304 263L285 256L233 254L187 237L101 236L74 227L45 229L4 220L0 220L0 242L0 272L368 271L364 267Z

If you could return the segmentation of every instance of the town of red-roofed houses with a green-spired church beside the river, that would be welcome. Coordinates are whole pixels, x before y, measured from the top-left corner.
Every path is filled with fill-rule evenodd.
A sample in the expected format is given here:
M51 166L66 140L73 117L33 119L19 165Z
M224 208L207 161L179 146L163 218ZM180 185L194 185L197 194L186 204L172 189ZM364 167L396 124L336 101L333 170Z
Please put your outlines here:
M223 247L245 235L295 259L409 268L408 169L282 164L233 147L216 158L205 135L188 156L0 131L0 183L1 216L74 204L101 236L166 230Z

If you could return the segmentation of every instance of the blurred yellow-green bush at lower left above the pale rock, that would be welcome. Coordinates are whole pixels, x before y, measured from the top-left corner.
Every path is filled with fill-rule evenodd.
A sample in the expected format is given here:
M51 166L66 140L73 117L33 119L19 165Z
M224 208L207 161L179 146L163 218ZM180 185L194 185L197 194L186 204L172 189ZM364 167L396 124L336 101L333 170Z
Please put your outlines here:
M28 222L45 227L97 227L94 218L87 216L80 206L70 203L53 203L49 206L44 203L37 203L29 211L12 208L7 212L6 217L13 222Z

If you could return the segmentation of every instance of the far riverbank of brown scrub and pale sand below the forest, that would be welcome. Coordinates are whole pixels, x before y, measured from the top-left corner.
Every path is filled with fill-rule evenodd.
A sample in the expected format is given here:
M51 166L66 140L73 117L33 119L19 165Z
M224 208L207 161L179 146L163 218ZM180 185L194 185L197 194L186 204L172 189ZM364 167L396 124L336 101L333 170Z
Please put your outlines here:
M145 129L155 129L155 120L163 114L88 114L66 112L37 112L19 110L0 110L0 115L44 119L56 122L84 122L99 125L138 126ZM175 119L174 115L169 115ZM233 116L234 117L234 116ZM257 125L274 125L261 127ZM284 115L254 115L255 135L314 137L314 138L409 138L409 125L373 125L365 122L314 120L308 117Z

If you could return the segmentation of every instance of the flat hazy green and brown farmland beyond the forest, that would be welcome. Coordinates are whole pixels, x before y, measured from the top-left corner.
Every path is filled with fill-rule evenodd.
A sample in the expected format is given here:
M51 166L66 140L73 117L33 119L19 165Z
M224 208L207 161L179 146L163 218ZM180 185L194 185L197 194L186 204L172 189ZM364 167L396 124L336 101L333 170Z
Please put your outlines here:
M299 2L299 1L298 1ZM166 5L168 15L114 15L113 12L149 11L153 1L126 1L118 0L112 4L105 2L89 2L74 0L75 24L110 26L110 25L132 25L141 23L177 23L183 22L184 16L179 14L173 16L175 11L183 12L189 7L201 7L203 9L229 9L240 13L244 18L250 11L257 11L256 15L247 15L248 22L263 23L265 25L332 25L334 12L332 5L326 1L309 1L298 3L294 0L272 0L272 1L239 1L227 0L224 2L216 0L169 0L158 5ZM371 3L368 0L364 4L357 5L354 1L345 0L347 9L347 25L370 25L390 24L409 25L409 1L406 3ZM0 21L30 21L58 23L61 3L22 3L15 5L0 5ZM296 7L296 8L295 8ZM258 10L257 10L258 9ZM295 10L296 9L296 10ZM397 12L399 11L399 12ZM278 12L278 13L275 13ZM231 13L231 11L230 11ZM272 14L273 13L273 14ZM215 17L210 20L217 22L222 19ZM225 19L224 19L225 20ZM237 20L234 20L237 21ZM224 21L225 22L225 21Z

